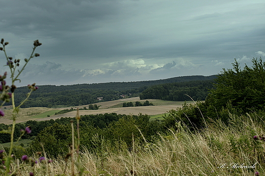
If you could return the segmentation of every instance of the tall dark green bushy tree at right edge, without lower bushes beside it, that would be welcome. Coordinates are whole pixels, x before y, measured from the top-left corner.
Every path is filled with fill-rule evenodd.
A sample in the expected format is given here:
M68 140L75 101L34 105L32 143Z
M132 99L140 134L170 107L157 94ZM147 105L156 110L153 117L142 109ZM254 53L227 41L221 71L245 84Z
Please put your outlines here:
M233 69L223 69L216 80L216 89L211 90L206 98L208 105L218 111L227 104L241 112L258 110L265 105L265 63L261 58L253 58L253 66L245 65L242 70L235 60Z

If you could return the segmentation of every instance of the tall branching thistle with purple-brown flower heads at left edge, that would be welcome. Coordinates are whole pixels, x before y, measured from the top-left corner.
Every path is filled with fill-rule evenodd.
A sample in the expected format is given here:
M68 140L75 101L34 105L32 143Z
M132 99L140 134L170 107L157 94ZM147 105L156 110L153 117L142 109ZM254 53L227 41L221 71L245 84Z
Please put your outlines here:
M0 75L0 82L1 82L1 85L0 85L0 91L1 91L1 94L0 94L0 100L1 100L1 105L0 105L0 108L6 103L6 102L10 102L12 101L12 109L13 109L13 112L12 112L12 120L13 120L13 123L12 123L12 128L10 130L2 130L1 133L8 133L11 135L11 144L10 144L10 150L9 150L9 153L5 153L4 151L1 151L1 159L2 159L2 162L5 163L5 166L3 166L3 169L1 170L2 173L4 172L5 175L12 175L15 173L15 170L13 171L10 171L10 165L12 163L12 160L13 160L13 155L12 155L12 151L13 151L13 148L14 148L14 131L15 131L15 125L16 125L16 118L17 118L17 114L18 114L18 111L19 111L19 108L22 104L24 104L24 102L26 100L29 99L31 93L33 91L36 91L38 89L38 86L35 85L35 83L33 84L29 84L28 85L28 88L30 89L30 92L26 95L25 99L23 101L21 101L17 106L15 105L15 95L14 95L14 92L16 90L16 85L15 85L15 82L16 81L20 81L19 79L19 76L20 74L22 73L22 71L25 69L26 65L30 62L30 60L33 58L33 57L38 57L40 56L40 54L38 53L35 53L35 49L41 45L41 43L39 43L38 40L34 41L33 45L33 51L30 55L29 58L25 58L24 59L24 64L22 64L22 67L20 66L20 60L19 59L15 59L13 60L13 57L9 56L7 54L7 51L6 51L6 46L9 44L9 42L5 42L4 39L1 40L1 44L3 47L0 47L0 50L1 51L4 51L4 54L5 54L5 57L6 57L6 61L7 61L7 64L6 66L9 67L10 69L10 78L11 78L11 85L7 85L7 82L6 82L6 78L8 76L8 73L5 72L4 75ZM20 67L19 67L20 66ZM18 69L20 68L20 69ZM11 99L11 100L10 100ZM0 116L5 116L5 113L3 110L0 110ZM31 132L31 128L30 127L26 127L24 130L21 130L21 135L20 137L18 138L18 140L26 133L30 133Z

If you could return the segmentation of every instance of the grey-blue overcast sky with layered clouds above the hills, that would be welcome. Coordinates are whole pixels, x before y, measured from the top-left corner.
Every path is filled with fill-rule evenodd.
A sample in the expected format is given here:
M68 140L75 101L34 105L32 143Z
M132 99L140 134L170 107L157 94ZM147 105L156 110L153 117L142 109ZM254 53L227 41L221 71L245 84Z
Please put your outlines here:
M265 61L264 9L264 0L0 0L0 38L22 60L42 43L18 86L207 76L234 58Z

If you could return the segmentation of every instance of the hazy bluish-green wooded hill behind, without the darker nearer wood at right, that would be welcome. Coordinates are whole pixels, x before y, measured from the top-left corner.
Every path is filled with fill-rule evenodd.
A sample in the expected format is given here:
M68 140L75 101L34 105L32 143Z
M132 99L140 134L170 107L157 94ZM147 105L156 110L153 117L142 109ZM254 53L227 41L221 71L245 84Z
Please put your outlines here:
M40 85L22 107L56 107L78 106L97 103L100 101L118 100L122 97L137 97L148 87L165 83L213 80L217 75L211 76L180 76L168 79L134 81L134 82L107 82L74 85ZM29 92L27 86L15 90L16 104L25 98ZM98 97L103 97L98 100ZM9 104L6 104L9 105Z

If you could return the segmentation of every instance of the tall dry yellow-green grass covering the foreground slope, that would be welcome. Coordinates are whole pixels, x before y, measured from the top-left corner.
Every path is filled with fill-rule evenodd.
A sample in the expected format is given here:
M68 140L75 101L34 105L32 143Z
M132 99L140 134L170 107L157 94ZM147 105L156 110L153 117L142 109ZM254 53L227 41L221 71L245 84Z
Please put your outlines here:
M254 175L256 171L262 175L265 142L253 139L254 135L264 134L264 123L260 121L255 114L230 114L229 125L218 121L208 129L191 132L177 123L178 130L160 134L152 143L141 144L136 139L132 150L115 151L115 146L106 145L99 155L83 147L80 152L83 175L130 175L133 168L137 175ZM65 165L66 175L70 174L71 164L63 157L49 164L50 174L63 174ZM40 170L41 163L35 167ZM21 168L20 174L27 175L29 169L30 166Z

